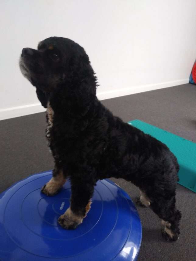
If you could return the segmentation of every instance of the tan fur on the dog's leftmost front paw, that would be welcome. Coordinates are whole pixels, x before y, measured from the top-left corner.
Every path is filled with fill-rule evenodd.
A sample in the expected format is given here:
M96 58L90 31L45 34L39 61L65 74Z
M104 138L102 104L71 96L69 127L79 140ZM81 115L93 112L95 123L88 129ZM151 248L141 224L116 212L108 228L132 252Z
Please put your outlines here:
M47 195L55 194L64 185L65 181L66 179L61 170L56 177L52 177L51 180L48 181L44 188L44 193Z

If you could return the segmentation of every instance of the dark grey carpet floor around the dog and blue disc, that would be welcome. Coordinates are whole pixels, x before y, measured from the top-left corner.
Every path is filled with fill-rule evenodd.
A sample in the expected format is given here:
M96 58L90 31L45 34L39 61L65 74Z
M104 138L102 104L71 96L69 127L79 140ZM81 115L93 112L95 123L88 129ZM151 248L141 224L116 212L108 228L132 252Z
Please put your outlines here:
M196 86L184 84L108 99L102 103L124 121L140 119L196 142ZM45 113L0 121L0 193L18 180L53 168L45 140L45 126ZM124 180L112 180L135 201L138 188ZM177 208L182 212L182 221L180 239L174 243L163 241L160 220L150 209L137 208L143 228L138 261L196 260L194 192L177 186Z

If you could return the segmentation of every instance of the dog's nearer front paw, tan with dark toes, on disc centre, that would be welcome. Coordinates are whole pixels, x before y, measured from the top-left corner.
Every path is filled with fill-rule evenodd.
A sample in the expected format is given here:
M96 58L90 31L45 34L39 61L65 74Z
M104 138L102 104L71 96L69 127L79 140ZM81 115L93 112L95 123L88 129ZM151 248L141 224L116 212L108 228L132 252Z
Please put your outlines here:
M75 229L83 221L82 217L76 216L70 208L68 208L63 215L58 218L58 223L62 228Z

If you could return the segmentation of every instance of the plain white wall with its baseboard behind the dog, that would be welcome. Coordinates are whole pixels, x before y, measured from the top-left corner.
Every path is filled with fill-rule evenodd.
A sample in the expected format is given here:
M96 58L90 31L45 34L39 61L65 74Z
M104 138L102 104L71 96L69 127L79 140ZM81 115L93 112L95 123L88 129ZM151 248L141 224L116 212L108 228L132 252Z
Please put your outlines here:
M188 82L196 58L195 0L1 0L0 119L40 112L18 60L49 36L78 42L100 99Z

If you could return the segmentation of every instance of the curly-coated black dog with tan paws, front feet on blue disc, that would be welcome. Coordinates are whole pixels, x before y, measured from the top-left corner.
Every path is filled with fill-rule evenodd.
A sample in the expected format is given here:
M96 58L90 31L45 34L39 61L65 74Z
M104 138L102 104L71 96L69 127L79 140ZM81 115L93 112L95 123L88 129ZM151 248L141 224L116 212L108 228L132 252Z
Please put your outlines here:
M96 97L96 77L84 49L72 40L50 37L38 50L24 48L23 75L47 108L46 136L55 167L42 192L56 194L69 177L70 207L59 217L76 228L90 209L97 180L124 178L140 188L138 203L162 219L166 240L180 234L175 206L179 165L166 145L124 123Z

